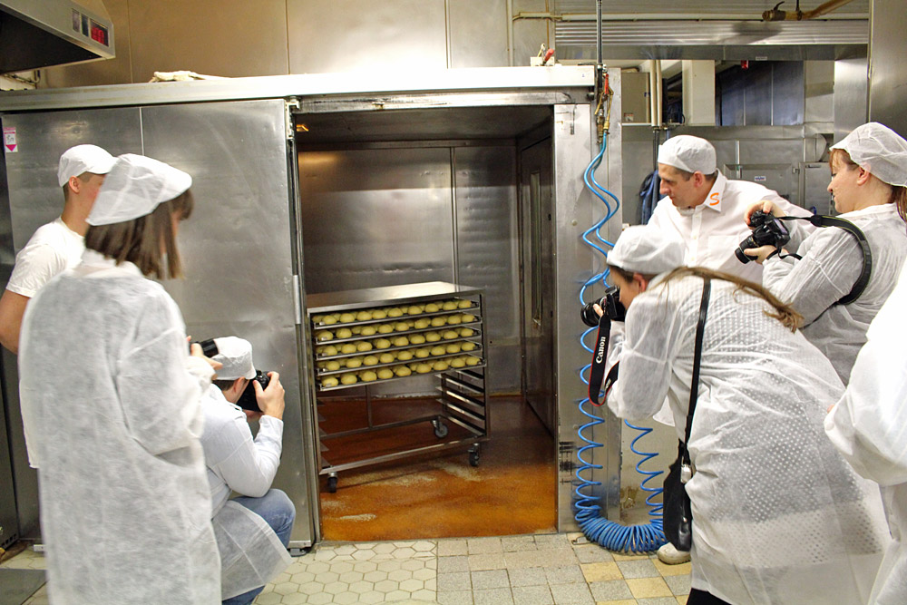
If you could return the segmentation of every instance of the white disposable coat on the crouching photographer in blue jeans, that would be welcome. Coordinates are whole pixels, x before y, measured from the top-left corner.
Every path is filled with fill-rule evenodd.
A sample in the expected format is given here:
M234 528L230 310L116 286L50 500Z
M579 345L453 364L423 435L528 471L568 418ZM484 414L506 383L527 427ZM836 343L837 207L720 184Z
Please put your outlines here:
M229 599L264 586L292 562L264 519L228 500L230 490L253 498L268 493L280 464L283 421L262 416L253 441L246 415L217 386L210 385L202 406L205 432L201 444L220 550L221 596Z

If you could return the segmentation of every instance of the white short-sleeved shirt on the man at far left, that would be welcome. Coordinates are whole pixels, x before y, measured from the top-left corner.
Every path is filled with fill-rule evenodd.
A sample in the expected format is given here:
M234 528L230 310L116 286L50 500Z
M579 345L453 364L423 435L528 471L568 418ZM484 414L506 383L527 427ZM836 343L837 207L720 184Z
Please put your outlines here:
M82 262L85 239L66 226L62 218L34 232L25 247L15 255L15 267L6 289L34 298L38 290L63 269Z

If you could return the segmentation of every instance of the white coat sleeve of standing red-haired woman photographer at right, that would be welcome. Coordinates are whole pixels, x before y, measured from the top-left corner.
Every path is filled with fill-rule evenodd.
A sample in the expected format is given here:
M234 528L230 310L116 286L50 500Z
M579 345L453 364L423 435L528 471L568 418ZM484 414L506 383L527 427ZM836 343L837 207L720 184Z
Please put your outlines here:
M843 229L822 229L797 250L803 258L767 259L762 284L795 308L805 325L815 321L853 288L863 269L863 253Z

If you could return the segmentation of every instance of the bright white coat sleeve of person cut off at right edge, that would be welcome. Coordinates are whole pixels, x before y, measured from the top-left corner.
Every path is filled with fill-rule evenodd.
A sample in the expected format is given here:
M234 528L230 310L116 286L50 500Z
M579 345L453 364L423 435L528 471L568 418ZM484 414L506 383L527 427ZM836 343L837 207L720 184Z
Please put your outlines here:
M825 433L853 469L882 485L907 483L907 271L873 320Z

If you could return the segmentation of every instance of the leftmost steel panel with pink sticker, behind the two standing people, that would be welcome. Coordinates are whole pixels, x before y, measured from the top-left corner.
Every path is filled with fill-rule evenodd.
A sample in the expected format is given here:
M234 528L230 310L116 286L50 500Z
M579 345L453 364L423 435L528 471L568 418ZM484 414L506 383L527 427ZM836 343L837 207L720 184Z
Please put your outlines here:
M3 116L3 125L16 129L18 141L17 151L5 154L12 239L7 237L3 241L4 284L15 262L15 252L23 248L35 229L60 216L63 210L63 191L56 180L60 154L73 145L89 142L104 147L114 155L141 153L139 124L137 109ZM25 453L15 356L5 350L3 356L4 399L20 537L40 540L37 474L28 466Z

